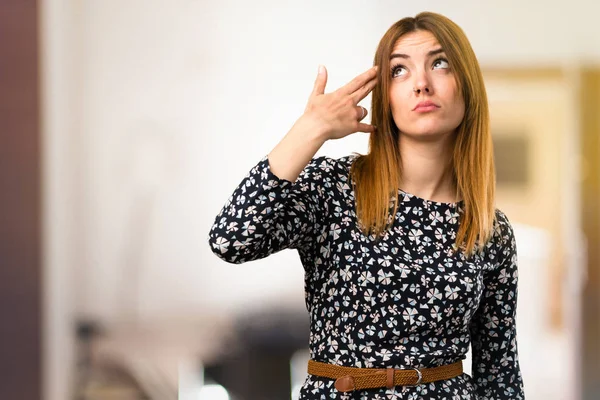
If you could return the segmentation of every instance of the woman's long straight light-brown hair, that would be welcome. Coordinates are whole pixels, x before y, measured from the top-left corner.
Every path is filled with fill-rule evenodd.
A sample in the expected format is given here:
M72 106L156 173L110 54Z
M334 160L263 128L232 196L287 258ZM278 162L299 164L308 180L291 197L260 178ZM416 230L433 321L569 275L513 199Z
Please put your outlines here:
M390 55L400 37L411 32L431 32L448 57L457 88L465 102L465 115L456 129L450 167L463 212L455 245L470 256L481 249L492 235L495 205L495 168L489 128L488 101L483 76L475 53L462 29L448 18L422 12L403 18L385 33L375 53L378 82L372 92L369 153L352 164L357 217L366 234L378 238L392 225L398 208L402 179L399 131L392 118L389 100L391 84ZM390 196L393 201L390 216Z

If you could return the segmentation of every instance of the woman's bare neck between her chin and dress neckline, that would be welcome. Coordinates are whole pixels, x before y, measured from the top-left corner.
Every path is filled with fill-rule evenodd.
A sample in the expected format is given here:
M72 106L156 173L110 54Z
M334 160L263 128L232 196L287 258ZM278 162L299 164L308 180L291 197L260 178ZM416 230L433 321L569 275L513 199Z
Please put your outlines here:
M435 141L415 140L400 135L402 181L400 188L423 199L451 203L458 201L452 177L454 135Z

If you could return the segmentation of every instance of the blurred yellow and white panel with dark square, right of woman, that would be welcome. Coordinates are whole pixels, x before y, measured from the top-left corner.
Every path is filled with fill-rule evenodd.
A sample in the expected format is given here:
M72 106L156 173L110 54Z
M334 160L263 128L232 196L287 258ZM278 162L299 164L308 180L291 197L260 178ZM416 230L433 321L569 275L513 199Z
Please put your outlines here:
M517 330L527 397L576 399L586 269L579 212L581 71L488 68L484 76L495 141L496 203L517 237ZM511 178L506 171L513 166ZM548 380L556 387L548 387Z

